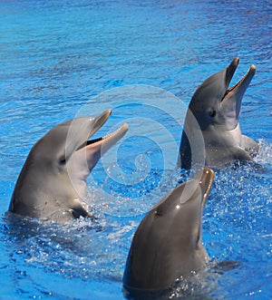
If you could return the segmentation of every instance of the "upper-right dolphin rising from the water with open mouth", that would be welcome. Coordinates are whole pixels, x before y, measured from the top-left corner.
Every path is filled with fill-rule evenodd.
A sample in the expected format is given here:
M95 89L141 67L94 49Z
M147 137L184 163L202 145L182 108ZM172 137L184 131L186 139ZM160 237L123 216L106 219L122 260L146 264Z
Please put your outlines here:
M257 142L241 134L238 120L243 95L256 67L251 65L248 73L228 88L238 61L235 58L228 68L210 76L189 102L180 141L178 165L182 169L203 163L218 168L232 160L253 160ZM202 146L197 136L203 140Z

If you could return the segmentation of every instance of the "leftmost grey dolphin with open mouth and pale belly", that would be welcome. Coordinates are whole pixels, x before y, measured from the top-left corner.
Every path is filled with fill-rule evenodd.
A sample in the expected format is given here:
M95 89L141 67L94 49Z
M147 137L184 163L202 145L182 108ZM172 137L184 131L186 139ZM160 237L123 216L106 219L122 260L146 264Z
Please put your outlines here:
M124 123L108 136L88 140L111 113L63 122L38 140L24 162L9 210L58 223L92 216L83 204L86 178L102 154L128 130Z

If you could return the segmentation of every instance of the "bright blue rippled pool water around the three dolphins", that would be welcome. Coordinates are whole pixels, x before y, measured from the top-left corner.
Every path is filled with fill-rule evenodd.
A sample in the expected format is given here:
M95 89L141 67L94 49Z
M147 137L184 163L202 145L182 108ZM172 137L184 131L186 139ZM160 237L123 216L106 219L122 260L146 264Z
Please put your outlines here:
M270 1L1 1L0 298L123 299L131 237L180 178L186 106L210 74L255 63L240 124L257 162L217 170L203 217L210 299L272 298ZM86 201L99 217L58 226L5 215L34 142L56 124L112 108L100 135L126 137L99 162ZM202 297L200 296L199 299Z

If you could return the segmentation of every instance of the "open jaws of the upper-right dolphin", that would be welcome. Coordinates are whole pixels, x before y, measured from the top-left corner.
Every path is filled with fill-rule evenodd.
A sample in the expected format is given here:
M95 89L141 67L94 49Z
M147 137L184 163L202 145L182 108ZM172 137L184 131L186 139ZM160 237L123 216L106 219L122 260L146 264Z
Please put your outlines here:
M236 69L238 67L238 58L235 58L232 63L227 68L227 74L226 77L228 80L228 83L231 81ZM237 92L239 89L242 89L243 92L245 92L248 88L248 84L253 78L254 74L256 72L256 66L252 64L250 68L248 69L248 72L233 86L229 87L228 90L225 92L223 98L221 99L221 102L223 102L226 98L228 98L231 94Z

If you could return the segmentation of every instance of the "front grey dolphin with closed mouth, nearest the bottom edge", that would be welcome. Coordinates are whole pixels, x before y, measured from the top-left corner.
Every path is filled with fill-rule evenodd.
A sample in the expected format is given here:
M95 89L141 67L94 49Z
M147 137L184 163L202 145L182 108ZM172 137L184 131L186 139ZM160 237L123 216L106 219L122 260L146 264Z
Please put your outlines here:
M201 240L202 213L213 178L212 169L201 169L194 179L161 198L142 219L123 275L127 297L138 299L142 292L163 290L208 262Z

